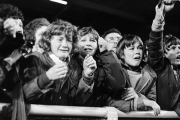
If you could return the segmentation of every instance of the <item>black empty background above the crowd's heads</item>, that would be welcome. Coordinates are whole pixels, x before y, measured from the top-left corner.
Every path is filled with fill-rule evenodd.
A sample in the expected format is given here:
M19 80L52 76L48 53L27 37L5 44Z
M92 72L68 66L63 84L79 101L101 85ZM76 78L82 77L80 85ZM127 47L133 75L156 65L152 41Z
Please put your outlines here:
M100 35L110 28L123 34L136 34L148 39L155 6L159 0L66 0L67 5L49 0L0 0L17 6L24 14L24 26L31 20L45 17L50 22L60 18L72 24L92 26ZM180 38L180 2L166 14L165 34Z

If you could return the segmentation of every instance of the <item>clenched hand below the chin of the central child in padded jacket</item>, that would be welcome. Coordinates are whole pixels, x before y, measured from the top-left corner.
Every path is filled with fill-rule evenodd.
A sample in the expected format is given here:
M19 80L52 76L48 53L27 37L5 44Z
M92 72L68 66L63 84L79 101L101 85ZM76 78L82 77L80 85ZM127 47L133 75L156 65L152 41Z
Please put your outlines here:
M83 69L84 69L84 74L87 76L92 74L97 69L96 61L89 54L84 58Z

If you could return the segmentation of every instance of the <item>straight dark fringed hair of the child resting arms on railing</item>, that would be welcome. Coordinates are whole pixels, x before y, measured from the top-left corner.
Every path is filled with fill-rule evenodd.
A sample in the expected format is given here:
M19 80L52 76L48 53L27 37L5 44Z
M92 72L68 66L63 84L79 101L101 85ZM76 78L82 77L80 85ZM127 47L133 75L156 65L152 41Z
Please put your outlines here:
M139 42L143 46L143 42L139 36L132 35L132 34L124 35L124 37L117 44L116 54L117 54L118 58L122 60L122 55L124 54L124 49L126 47L130 47L131 45L134 45L136 42ZM144 46L143 46L143 49L144 49Z

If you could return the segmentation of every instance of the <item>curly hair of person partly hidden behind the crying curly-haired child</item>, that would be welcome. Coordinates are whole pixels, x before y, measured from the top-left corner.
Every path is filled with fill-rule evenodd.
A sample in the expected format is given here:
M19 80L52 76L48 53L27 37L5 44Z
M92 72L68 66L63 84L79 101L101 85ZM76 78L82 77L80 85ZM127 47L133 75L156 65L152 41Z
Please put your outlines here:
M50 25L50 22L46 18L37 18L32 20L24 27L25 40L35 41L35 34L37 29L39 29L41 26L48 25Z

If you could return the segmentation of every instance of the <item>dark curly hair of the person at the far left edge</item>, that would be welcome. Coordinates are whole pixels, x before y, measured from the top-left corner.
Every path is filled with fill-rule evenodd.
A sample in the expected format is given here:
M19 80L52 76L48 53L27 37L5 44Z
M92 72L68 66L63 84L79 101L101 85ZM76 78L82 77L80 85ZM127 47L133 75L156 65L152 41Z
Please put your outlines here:
M24 21L23 13L17 7L10 4L0 4L0 18L3 20L13 18Z

